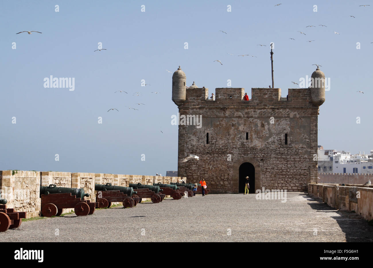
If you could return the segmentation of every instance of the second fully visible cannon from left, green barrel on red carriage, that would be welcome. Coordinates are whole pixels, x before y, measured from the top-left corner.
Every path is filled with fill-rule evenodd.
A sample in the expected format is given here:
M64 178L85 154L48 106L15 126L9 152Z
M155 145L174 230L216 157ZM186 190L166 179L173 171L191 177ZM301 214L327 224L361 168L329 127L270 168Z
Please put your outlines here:
M110 208L112 202L122 202L123 208L132 208L140 202L132 187L113 186L111 183L95 184L96 202L99 208Z

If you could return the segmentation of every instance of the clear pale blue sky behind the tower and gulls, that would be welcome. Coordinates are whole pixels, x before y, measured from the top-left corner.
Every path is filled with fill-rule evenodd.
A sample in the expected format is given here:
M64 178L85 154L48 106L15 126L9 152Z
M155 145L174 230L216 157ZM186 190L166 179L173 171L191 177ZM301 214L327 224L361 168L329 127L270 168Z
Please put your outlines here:
M251 88L271 84L270 42L275 87L283 97L294 87L291 81L311 76L311 64L322 65L331 79L320 107L319 145L369 152L372 12L368 0L1 1L0 170L177 170L178 126L170 122L178 109L171 100L172 73L165 69L181 65L187 85L195 81L209 95L228 79L251 95ZM93 52L98 42L107 50ZM75 90L44 88L50 75L75 78ZM142 87L141 79L150 86ZM133 96L137 91L142 95Z

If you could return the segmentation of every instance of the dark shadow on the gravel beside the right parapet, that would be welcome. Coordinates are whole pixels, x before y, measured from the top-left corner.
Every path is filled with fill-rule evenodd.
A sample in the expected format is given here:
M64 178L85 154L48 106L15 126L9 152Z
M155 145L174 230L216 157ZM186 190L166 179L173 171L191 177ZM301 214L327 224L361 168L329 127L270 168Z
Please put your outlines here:
M336 212L340 215L332 216L331 218L336 220L342 232L345 233L346 242L373 242L373 226L370 226L367 220L349 218L346 213L342 213L338 209L323 203L321 199L312 198L307 194L301 194L301 196L307 200L317 201L318 203L307 203L312 209L316 209L317 212Z

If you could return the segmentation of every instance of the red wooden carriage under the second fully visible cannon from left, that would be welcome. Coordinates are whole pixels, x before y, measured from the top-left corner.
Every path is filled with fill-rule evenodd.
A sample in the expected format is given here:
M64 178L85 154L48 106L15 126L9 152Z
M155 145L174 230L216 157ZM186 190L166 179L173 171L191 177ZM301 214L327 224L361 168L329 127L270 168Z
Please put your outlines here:
M112 202L122 202L124 208L132 208L140 202L140 198L137 195L128 196L120 190L98 191L96 201L99 208L110 208Z

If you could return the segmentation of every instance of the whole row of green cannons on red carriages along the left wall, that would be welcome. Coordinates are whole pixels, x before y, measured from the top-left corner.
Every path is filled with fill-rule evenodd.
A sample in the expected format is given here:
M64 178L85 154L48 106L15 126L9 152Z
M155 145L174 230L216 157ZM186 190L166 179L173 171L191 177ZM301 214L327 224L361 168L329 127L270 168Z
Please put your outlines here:
M91 202L84 199L90 195L85 193L83 188L57 187L54 184L40 186L41 216L60 216L64 208L73 208L77 216L86 216L93 214L96 208L110 208L113 202L122 202L123 208L132 208L141 203L143 198L150 198L153 203L159 203L166 195L177 200L182 196L194 196L196 191L193 191L193 188L194 185L191 183L130 183L129 187L114 186L111 183L96 184L96 202ZM0 232L18 228L22 218L26 218L26 212L7 209L6 203L6 199L0 199Z

